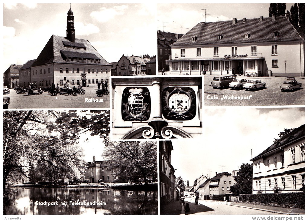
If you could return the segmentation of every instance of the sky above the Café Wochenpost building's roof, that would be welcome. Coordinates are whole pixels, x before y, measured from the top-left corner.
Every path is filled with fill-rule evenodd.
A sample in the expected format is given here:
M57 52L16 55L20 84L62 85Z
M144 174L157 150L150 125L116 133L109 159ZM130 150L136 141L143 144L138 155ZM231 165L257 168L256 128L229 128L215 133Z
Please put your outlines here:
M286 10L294 3L286 3ZM163 3L157 5L157 30L185 34L197 23L269 16L270 3ZM203 16L202 16L203 15ZM218 18L219 17L219 18ZM174 23L175 22L175 23Z

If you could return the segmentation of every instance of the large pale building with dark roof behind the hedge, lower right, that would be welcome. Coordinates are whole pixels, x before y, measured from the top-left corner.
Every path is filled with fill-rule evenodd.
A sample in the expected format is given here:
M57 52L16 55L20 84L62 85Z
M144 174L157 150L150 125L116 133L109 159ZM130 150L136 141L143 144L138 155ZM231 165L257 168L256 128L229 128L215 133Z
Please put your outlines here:
M305 124L252 159L253 193L298 192L305 186Z

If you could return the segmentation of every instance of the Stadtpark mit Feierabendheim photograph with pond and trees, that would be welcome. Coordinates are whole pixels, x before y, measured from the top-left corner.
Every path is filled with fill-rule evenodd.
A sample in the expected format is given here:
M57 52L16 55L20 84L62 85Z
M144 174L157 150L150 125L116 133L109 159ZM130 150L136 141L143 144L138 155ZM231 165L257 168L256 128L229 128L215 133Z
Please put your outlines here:
M156 142L111 142L109 111L5 111L3 215L157 215Z

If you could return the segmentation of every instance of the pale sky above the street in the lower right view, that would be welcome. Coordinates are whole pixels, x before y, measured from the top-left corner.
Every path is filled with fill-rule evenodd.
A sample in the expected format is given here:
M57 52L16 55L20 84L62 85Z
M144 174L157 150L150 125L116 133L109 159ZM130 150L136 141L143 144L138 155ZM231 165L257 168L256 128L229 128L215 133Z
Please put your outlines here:
M191 186L201 175L238 170L273 144L284 128L305 123L304 108L229 107L205 110L202 140L172 141L171 164L176 177ZM210 171L211 170L211 171Z

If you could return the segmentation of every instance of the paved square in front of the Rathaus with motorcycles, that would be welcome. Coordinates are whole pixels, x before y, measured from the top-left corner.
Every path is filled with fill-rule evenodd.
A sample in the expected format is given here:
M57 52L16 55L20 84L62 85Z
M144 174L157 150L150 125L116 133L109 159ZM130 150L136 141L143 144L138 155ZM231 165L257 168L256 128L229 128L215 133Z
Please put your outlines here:
M107 96L96 96L97 87L83 88L86 93L80 95L57 95L51 96L48 92L43 94L28 95L16 94L15 90L11 90L10 94L3 96L10 97L9 109L33 109L33 108L109 108L110 107L110 94ZM58 99L56 99L58 98ZM103 99L103 102L86 102L95 99Z

